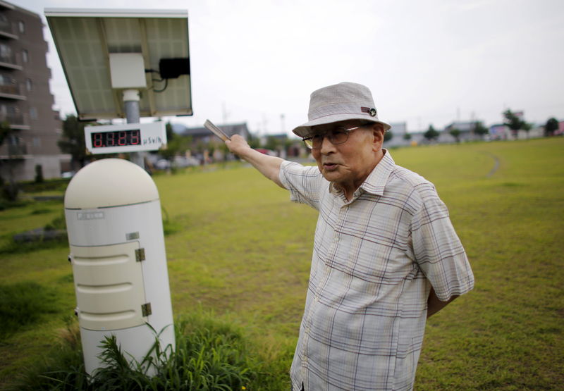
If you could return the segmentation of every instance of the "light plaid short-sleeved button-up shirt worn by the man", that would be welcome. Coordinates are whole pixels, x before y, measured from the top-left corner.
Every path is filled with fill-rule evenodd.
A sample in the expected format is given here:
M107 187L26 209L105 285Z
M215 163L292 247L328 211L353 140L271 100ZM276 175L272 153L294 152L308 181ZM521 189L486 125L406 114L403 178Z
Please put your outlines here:
M319 211L293 389L412 389L431 285L443 301L474 285L434 185L389 151L350 201L317 167L284 162L280 180Z

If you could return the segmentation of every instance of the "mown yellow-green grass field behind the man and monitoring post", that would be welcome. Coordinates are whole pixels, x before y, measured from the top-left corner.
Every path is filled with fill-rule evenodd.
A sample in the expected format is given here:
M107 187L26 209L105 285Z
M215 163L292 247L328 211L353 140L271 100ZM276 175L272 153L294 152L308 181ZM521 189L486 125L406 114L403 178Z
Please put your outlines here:
M562 389L564 139L391 153L434 182L476 279L427 324L415 389ZM287 390L316 212L242 164L154 180L168 220L174 314L203 311L238 325L253 354L276 368L262 389ZM73 314L68 248L10 243L61 214L57 201L0 211L0 302L30 289L43 298L25 324L8 329L2 319L0 385L55 346Z

